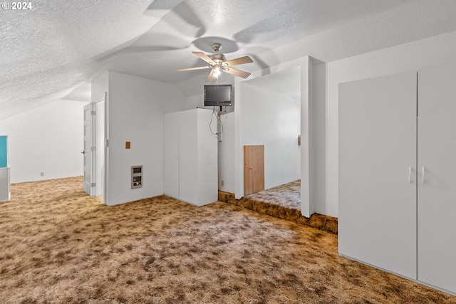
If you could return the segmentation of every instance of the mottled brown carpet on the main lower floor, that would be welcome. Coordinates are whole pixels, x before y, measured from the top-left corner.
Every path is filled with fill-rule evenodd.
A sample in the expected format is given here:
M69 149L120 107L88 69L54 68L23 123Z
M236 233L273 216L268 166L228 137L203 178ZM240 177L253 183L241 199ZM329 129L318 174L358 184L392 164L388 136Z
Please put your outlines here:
M335 234L222 202L104 206L79 177L13 184L0 231L0 303L456 303Z

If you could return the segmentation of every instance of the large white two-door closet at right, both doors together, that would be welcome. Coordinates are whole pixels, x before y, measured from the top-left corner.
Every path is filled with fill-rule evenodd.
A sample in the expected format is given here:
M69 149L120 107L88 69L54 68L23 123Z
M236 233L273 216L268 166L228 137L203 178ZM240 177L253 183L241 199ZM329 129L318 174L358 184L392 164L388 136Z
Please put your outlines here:
M339 85L338 251L456 293L456 66Z

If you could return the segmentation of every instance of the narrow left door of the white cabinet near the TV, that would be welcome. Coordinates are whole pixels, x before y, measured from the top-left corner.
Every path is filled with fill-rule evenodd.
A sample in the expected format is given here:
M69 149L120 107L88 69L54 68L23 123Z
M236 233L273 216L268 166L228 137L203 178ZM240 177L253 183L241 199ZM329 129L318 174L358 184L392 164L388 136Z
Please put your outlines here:
M163 126L163 193L179 198L179 113L167 113Z

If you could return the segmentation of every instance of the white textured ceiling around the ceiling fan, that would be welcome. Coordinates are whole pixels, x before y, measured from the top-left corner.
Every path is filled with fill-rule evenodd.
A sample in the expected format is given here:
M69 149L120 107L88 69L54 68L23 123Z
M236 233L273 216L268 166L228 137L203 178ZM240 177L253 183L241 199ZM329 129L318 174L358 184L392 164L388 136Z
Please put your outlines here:
M239 68L252 72L301 56L333 61L456 30L453 0L31 4L31 10L0 10L0 118L59 98L85 100L87 86L78 86L103 70L167 83L204 81L207 70L176 69L204 65L191 51L212 53L216 41L227 59L251 56L254 63Z

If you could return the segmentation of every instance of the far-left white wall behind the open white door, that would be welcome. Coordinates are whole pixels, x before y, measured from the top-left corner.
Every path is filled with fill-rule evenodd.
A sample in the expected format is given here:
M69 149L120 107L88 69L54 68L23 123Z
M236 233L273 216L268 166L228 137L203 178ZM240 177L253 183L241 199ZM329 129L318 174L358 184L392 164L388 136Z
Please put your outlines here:
M86 104L57 100L0 121L0 135L9 135L11 183L83 175Z

